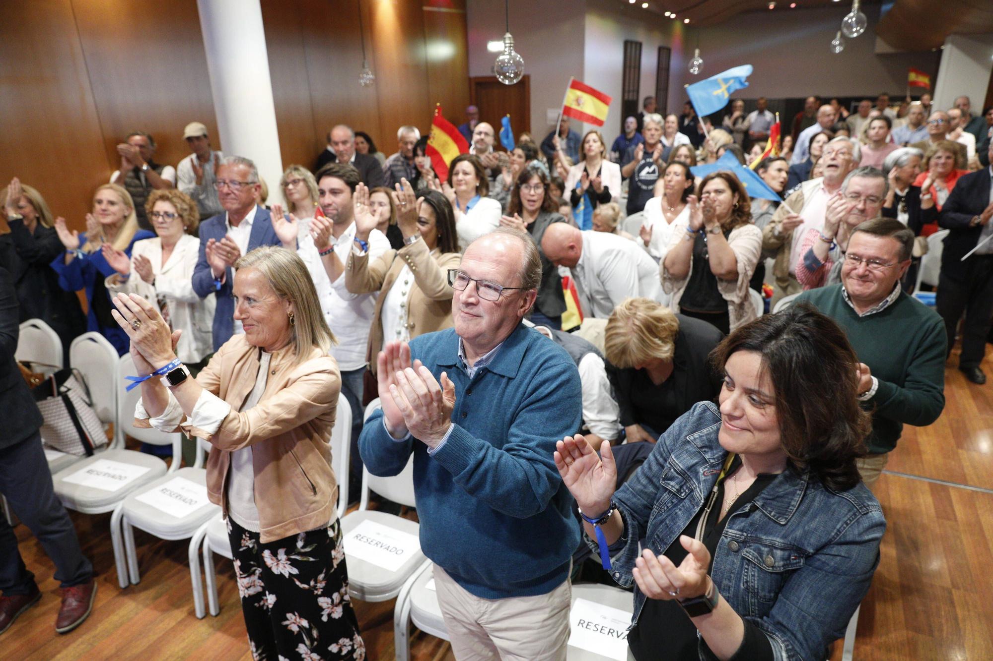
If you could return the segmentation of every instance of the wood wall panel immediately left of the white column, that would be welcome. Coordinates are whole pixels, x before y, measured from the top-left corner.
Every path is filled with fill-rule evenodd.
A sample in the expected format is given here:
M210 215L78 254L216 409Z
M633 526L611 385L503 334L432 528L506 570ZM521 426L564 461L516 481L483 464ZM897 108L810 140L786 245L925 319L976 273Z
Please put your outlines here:
M73 0L72 9L111 166L106 177L130 131L151 133L155 160L173 166L190 153L188 122L204 122L217 146L197 0Z

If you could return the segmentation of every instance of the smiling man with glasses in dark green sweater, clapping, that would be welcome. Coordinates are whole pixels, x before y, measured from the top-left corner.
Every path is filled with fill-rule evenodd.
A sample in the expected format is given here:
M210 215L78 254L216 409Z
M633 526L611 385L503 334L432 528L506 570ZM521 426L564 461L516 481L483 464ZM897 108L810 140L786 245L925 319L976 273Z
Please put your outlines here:
M848 241L841 284L796 298L837 322L861 361L859 399L872 411L872 433L859 472L870 488L904 425L930 425L944 408L944 325L900 288L913 246L914 232L899 220L867 220Z

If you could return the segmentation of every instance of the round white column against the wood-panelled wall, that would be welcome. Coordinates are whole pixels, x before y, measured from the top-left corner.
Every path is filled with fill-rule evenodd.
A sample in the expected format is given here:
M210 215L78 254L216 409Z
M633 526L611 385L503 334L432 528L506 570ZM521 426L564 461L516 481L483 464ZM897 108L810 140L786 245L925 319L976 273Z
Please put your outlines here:
M282 202L283 158L259 0L198 0L213 110L225 156L251 159Z

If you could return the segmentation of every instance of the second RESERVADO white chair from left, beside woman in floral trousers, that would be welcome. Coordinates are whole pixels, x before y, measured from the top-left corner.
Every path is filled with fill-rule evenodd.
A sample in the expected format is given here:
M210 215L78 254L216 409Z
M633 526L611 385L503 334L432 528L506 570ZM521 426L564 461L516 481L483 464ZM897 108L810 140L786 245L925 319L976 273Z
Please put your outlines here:
M163 511L155 505L140 500L142 494L155 491L163 484L182 477L200 486L207 486L207 470L203 468L204 457L210 451L210 444L203 439L197 440L197 460L192 466L180 468L174 473L169 473L149 484L147 487L135 490L125 498L110 519L111 527L119 525L124 539L124 553L127 567L125 571L124 560L114 558L117 565L117 583L121 589L131 585L137 585L141 580L138 574L138 554L134 545L134 528L140 528L145 532L155 535L159 539L178 540L189 539L196 535L214 516L220 514L220 507L214 505L206 499L206 488L203 492L204 500L199 506L183 516L175 516ZM176 463L179 463L178 460ZM196 557L196 553L194 556ZM193 585L194 609L197 617L204 616L204 587L200 580L200 571L196 574L191 572L191 583Z

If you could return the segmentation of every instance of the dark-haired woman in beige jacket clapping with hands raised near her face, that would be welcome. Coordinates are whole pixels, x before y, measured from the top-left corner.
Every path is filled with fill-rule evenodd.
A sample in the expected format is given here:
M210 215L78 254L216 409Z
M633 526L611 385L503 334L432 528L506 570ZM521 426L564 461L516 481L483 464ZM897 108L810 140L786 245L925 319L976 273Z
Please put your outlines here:
M452 326L452 287L449 269L459 268L458 237L452 206L437 191L420 191L401 181L393 194L399 210L397 226L403 247L390 249L369 263L367 251L353 249L345 271L345 286L353 294L378 292L365 359L375 373L376 354L388 341L408 341L425 332ZM399 188L399 187L398 187ZM355 238L367 240L377 217L369 209L364 185L355 189Z

